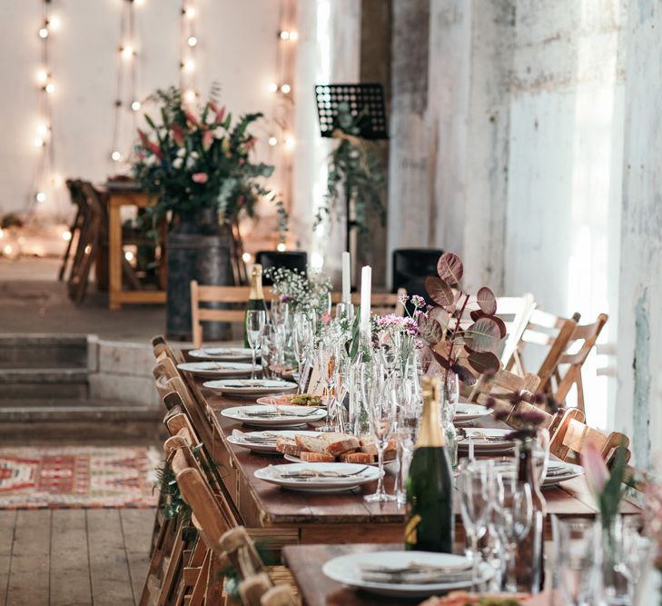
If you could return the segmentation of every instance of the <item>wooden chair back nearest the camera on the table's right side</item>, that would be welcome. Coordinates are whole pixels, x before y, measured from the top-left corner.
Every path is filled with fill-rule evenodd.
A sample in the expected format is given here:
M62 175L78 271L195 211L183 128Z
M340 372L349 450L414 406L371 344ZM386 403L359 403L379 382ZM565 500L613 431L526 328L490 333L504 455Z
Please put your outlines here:
M611 464L614 460L616 450L621 443L627 448L629 439L624 433L611 432L605 435L598 430L588 427L584 422L573 415L567 415L555 432L549 443L549 452L559 459L569 462L579 462L580 454L588 442L593 442L598 447L602 458ZM626 462L630 460L630 451L627 450Z

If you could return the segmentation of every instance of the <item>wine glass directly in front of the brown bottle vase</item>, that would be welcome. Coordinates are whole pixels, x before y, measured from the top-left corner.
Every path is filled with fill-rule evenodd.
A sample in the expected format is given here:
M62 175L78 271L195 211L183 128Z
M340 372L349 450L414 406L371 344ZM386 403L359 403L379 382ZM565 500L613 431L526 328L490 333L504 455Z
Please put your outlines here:
M517 473L499 472L494 500L495 525L499 540L506 546L505 591L517 591L515 549L531 528L533 502L531 487L518 480Z

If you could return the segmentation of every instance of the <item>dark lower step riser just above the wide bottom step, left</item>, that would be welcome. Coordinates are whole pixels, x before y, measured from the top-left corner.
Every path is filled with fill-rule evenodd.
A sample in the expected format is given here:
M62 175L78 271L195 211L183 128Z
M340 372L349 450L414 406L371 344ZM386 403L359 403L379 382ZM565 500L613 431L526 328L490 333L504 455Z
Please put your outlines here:
M80 400L88 394L88 373L84 369L0 369L0 402L54 398Z

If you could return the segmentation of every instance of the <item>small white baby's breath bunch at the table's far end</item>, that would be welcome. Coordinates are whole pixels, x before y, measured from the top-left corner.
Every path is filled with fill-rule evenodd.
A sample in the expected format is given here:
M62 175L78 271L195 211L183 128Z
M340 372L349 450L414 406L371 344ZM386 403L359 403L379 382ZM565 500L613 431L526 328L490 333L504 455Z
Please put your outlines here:
M308 315L314 312L318 320L328 313L333 284L325 273L306 275L285 267L268 267L264 275L272 280L273 293L279 296L282 303L290 303L295 312Z

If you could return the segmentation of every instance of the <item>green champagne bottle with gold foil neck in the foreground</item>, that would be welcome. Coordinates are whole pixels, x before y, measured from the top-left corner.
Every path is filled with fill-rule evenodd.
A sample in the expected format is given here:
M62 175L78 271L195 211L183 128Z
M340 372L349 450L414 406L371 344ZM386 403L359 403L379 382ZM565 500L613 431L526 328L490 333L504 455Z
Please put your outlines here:
M453 552L453 476L440 426L440 381L423 377L423 416L407 478L405 549Z

